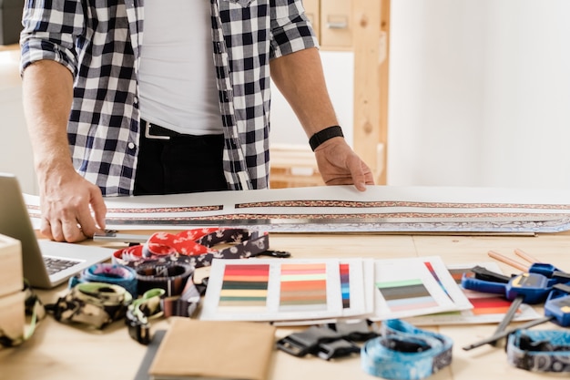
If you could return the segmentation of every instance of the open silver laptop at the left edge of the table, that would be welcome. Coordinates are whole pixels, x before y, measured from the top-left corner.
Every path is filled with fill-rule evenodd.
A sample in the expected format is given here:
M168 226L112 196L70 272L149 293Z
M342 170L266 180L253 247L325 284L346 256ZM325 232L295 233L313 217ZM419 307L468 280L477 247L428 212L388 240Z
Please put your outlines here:
M111 258L114 250L37 239L15 175L0 173L0 234L22 244L24 278L35 288L51 289L97 262Z

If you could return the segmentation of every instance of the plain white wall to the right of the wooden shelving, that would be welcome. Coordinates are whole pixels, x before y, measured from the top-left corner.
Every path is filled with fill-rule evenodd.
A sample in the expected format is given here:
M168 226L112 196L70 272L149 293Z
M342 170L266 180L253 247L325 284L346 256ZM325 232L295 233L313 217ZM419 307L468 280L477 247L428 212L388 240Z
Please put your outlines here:
M570 1L392 1L388 183L570 188Z

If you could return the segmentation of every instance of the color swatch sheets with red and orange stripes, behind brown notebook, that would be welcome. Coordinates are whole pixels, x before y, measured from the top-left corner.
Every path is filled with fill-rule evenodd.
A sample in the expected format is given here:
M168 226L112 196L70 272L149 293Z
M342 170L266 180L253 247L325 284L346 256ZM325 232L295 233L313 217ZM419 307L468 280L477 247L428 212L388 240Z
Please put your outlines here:
M372 312L372 260L214 260L201 319L282 321ZM365 274L366 273L366 274ZM365 285L367 284L367 285Z

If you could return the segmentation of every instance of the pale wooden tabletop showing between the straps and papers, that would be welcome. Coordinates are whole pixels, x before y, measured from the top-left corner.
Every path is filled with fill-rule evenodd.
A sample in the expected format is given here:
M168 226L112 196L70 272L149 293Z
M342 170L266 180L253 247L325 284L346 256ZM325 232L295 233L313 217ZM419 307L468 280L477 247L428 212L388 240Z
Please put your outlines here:
M535 237L275 233L270 235L270 246L275 250L289 251L296 258L404 258L439 255L449 264L485 262L490 260L487 256L490 250L511 254L514 248L519 248L543 262L551 262L563 270L570 270L570 233L541 234ZM506 273L517 272L503 263L499 264ZM60 287L38 293L44 303L49 303L65 291L65 287ZM429 327L450 336L454 342L453 364L430 378L524 380L551 377L508 365L502 346L486 345L471 351L462 350L464 345L493 334L495 327L496 324ZM168 320L154 322L152 328L168 328ZM557 327L555 324L543 324L536 328ZM278 336L290 332L292 330L280 328ZM132 340L121 323L112 324L103 332L92 332L59 324L48 316L25 344L0 349L0 379L132 379L145 352L146 347ZM361 370L358 357L325 362L315 357L296 358L276 352L270 368L270 379L295 378L370 380L376 377L366 375Z

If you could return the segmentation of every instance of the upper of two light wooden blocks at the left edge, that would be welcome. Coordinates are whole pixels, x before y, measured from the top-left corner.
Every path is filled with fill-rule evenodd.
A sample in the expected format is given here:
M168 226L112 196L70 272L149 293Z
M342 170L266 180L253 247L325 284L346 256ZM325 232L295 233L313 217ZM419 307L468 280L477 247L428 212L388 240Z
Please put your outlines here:
M0 297L21 292L23 285L22 244L0 235Z

